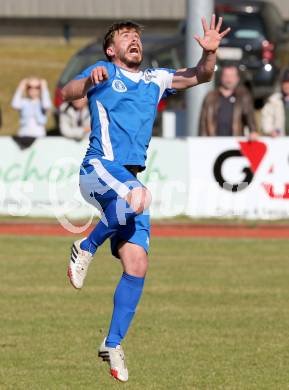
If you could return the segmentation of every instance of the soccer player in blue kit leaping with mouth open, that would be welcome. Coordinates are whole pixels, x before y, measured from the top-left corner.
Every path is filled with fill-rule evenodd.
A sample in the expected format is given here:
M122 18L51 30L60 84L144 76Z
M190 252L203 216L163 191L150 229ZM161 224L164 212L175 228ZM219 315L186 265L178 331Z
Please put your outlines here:
M148 268L151 195L137 174L145 169L160 99L213 76L216 50L230 29L220 32L222 19L216 25L215 15L210 27L205 18L202 25L204 36L195 36L203 48L196 67L141 71L140 26L130 21L114 23L103 41L107 61L85 69L62 90L66 101L88 97L92 130L80 169L80 191L102 213L90 235L74 242L68 277L75 288L82 288L97 248L110 238L123 274L114 294L109 332L98 354L109 363L111 375L122 382L128 380L128 370L121 341L135 314Z

